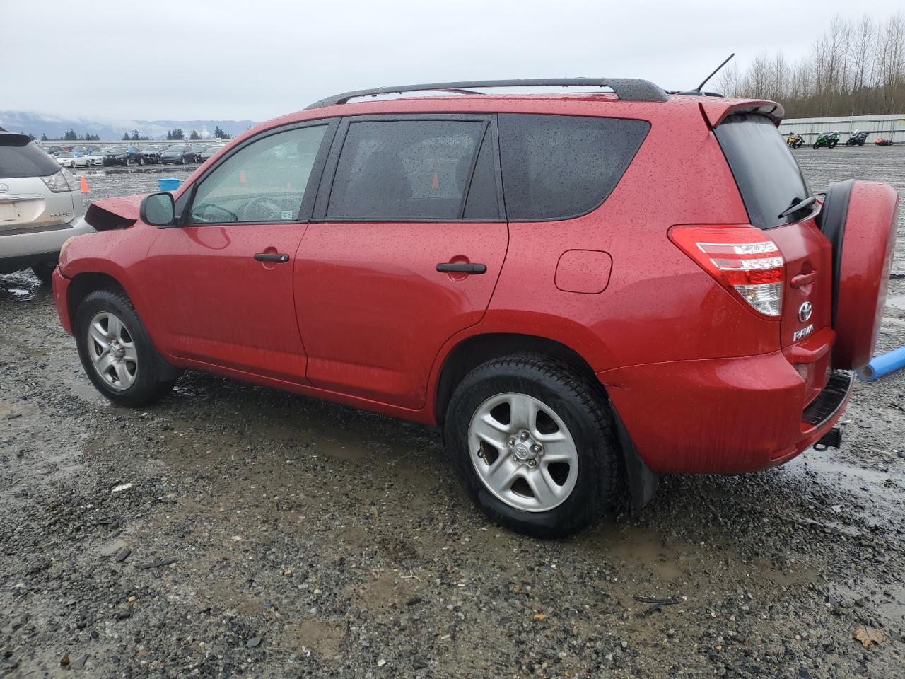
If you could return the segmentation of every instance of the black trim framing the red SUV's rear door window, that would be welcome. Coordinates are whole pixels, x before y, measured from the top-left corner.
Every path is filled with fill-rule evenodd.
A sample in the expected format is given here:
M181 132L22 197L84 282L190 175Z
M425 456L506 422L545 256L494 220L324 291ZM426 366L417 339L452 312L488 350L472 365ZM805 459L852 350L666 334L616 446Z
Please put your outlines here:
M472 158L472 174L468 178L468 188L472 186L472 178L474 177L474 168L478 162L478 155L481 153L481 146L487 134L491 134L491 150L493 151L493 173L497 187L497 217L496 219L465 219L462 217L465 206L468 202L468 190L462 196L462 205L459 210L458 219L438 219L436 217L405 217L405 218L367 218L360 217L329 217L327 216L327 206L329 205L330 192L333 190L333 180L336 177L336 171L339 164L339 154L343 145L346 143L348 128L354 122L401 122L414 120L453 120L453 121L472 121L485 123L481 139L475 149ZM500 173L500 139L496 130L496 114L495 113L392 113L392 114L371 114L360 116L344 116L340 122L339 129L333 137L333 146L330 148L327 166L324 168L320 181L320 190L317 200L314 204L314 212L310 217L312 224L505 224L506 212L503 203L503 185L502 175Z

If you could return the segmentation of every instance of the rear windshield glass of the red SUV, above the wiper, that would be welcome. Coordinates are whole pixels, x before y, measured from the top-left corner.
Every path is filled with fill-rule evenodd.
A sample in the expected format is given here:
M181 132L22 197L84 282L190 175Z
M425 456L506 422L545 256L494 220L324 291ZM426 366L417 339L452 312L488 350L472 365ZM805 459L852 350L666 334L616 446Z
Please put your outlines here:
M729 116L716 129L716 135L752 225L769 229L801 219L797 213L777 216L810 194L801 169L772 120L753 113Z

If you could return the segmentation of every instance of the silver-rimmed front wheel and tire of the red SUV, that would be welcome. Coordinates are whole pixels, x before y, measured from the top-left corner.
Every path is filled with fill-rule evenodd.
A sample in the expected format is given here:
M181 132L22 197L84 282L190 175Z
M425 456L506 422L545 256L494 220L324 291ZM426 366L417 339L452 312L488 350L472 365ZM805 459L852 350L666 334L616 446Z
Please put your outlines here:
M167 365L122 292L90 292L75 312L75 341L91 383L119 406L156 403L173 389L179 371Z

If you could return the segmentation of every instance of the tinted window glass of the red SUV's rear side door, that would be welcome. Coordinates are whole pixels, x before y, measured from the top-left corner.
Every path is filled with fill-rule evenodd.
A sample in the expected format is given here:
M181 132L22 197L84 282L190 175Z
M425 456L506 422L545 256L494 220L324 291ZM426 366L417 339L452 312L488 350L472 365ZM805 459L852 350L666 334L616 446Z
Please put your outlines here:
M330 189L327 216L461 219L486 128L481 120L350 123ZM485 183L474 186L477 190ZM477 202L469 207L472 214L486 209Z

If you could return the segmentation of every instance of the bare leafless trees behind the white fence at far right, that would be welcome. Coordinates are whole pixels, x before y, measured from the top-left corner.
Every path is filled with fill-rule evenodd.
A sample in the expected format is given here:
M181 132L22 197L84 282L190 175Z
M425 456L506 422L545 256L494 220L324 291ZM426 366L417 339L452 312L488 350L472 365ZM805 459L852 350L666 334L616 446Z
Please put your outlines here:
M719 91L779 101L786 118L900 114L905 110L905 15L838 15L803 59L760 53L744 72L729 64Z

